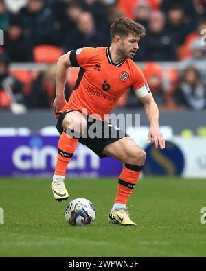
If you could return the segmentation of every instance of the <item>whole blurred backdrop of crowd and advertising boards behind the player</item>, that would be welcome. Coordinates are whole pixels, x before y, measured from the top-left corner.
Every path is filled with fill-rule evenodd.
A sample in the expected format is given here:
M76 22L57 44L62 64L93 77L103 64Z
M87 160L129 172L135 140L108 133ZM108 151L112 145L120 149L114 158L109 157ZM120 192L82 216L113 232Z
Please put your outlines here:
M0 0L0 176L52 176L58 133L52 109L59 56L109 46L110 25L128 16L146 27L134 61L160 110L165 150L148 145L148 121L128 90L114 113L140 113L127 132L147 152L143 175L206 178L205 0ZM69 69L69 99L78 69ZM100 161L83 145L69 176L118 176L122 164Z

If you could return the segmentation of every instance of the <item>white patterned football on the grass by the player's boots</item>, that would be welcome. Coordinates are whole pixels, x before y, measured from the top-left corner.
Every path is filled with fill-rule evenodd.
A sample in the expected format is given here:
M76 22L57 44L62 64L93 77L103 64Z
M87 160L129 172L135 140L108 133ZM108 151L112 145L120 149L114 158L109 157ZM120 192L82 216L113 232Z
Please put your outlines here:
M71 200L65 210L65 218L72 226L89 226L95 220L95 207L86 198Z

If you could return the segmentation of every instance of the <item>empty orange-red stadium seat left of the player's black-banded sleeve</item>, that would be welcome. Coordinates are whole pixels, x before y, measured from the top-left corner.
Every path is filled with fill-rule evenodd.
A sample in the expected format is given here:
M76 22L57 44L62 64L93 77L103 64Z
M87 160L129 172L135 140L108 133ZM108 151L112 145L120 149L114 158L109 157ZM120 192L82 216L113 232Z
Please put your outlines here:
M53 64L62 56L63 51L54 45L38 45L33 49L34 62Z

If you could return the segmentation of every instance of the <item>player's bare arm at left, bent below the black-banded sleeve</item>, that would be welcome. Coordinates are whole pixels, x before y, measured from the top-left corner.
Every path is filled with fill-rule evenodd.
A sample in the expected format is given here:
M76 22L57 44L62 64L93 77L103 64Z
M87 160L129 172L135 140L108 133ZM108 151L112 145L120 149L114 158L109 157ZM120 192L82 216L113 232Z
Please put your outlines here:
M64 54L58 58L56 64L56 97L54 99L53 108L58 113L65 106L65 84L67 82L67 69L72 67L70 62L70 53Z

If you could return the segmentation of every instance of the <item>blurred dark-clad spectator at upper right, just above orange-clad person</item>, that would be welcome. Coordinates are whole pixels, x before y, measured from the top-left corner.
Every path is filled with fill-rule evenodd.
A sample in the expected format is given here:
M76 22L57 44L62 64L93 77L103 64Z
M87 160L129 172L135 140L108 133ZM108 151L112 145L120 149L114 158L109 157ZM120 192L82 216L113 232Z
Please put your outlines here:
M176 46L182 45L186 36L195 30L195 25L185 21L185 12L181 5L172 5L168 9L167 16L166 32Z

